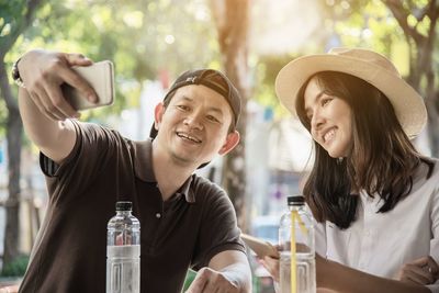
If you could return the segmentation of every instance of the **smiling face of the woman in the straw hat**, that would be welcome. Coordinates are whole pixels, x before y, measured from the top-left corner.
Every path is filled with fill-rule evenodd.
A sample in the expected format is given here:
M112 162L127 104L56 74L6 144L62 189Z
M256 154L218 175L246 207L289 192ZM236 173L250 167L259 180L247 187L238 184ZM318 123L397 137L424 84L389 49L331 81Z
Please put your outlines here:
M304 94L311 135L333 158L346 157L352 145L352 111L349 104L324 92L317 79L309 80Z

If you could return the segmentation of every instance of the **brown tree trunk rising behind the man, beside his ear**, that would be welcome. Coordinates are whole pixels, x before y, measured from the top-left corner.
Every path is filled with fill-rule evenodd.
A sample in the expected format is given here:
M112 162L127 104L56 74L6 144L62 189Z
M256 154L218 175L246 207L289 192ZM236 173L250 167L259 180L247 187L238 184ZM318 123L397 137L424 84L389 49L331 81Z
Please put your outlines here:
M248 0L213 0L212 12L216 22L222 61L226 76L243 97L241 114L238 122L239 145L224 158L223 187L235 206L238 224L247 227L246 203L246 121L247 99L249 97L247 32Z

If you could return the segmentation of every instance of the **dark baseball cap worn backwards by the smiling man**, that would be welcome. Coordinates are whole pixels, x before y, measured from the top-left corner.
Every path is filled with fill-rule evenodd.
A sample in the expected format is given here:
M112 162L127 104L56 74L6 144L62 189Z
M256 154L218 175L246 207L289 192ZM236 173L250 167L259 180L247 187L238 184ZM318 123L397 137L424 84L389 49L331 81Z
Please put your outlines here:
M234 114L234 124L238 124L240 115L240 95L238 90L232 83L232 81L221 71L214 69L195 69L188 70L181 74L173 84L170 87L168 93L164 98L164 102L172 98L173 93L182 87L191 84L202 84L207 87L221 95L223 95L232 108ZM151 127L149 137L155 138L157 136L157 129Z

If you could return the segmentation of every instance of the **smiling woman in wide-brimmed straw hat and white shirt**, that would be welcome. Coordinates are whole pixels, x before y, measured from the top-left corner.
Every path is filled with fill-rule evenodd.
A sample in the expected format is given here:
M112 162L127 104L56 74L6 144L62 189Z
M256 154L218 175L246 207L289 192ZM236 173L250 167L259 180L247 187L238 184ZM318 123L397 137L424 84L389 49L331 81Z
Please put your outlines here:
M303 192L326 257L317 285L439 292L439 165L409 140L427 120L421 97L384 56L359 48L295 59L275 90L315 143ZM278 279L279 262L263 263Z

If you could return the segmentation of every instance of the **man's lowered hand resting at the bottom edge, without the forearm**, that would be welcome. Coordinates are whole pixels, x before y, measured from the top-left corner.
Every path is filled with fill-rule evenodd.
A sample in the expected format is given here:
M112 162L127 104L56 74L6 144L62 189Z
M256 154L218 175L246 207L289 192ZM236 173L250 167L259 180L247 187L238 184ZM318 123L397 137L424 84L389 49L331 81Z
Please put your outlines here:
M203 268L196 273L196 277L187 293L202 292L239 293L240 290L237 284L227 279L225 273L215 271L211 268Z

